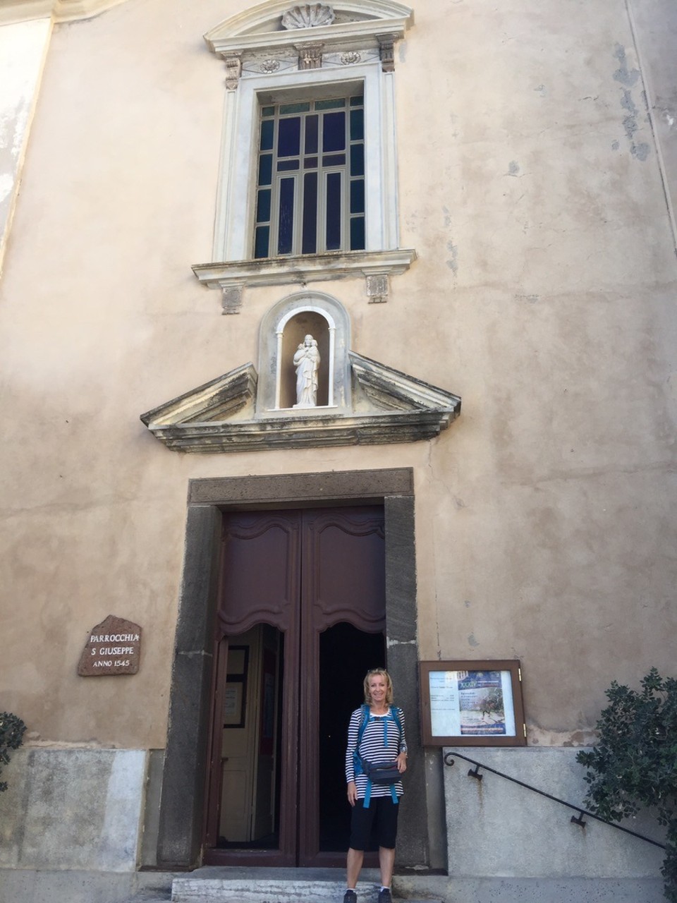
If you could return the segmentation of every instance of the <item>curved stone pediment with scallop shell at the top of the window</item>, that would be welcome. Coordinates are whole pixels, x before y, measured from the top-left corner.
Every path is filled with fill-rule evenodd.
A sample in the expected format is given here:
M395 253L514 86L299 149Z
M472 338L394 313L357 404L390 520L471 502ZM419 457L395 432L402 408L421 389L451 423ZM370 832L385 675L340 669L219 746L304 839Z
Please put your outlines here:
M412 22L409 6L389 0L338 4L270 0L218 23L205 34L205 41L215 53L279 48L305 41L368 42L376 33L401 36Z

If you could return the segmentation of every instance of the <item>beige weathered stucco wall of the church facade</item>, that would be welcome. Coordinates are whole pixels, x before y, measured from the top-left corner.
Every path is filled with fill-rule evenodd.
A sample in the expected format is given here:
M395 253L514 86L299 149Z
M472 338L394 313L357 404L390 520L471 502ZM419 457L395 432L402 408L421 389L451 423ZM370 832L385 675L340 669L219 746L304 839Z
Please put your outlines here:
M673 667L674 236L622 0L425 0L396 56L401 247L360 354L463 397L433 442L191 456L138 415L256 360L296 290L209 260L223 63L244 4L128 0L56 26L0 283L1 704L32 742L165 742L188 480L412 467L422 658L521 658L531 743ZM626 92L626 93L624 93ZM664 171L663 171L664 175ZM134 677L76 675L107 614Z

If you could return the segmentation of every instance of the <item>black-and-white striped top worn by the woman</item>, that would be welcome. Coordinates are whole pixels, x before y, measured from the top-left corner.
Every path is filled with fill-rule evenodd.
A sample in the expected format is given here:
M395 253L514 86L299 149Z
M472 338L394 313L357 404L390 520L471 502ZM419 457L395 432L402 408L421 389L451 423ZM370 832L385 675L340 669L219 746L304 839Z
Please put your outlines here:
M400 752L406 751L406 740L404 739L404 712L397 709L397 717L402 725L402 735L397 729L397 722L390 714L390 709L385 715L369 714L365 732L362 735L362 741L359 744L360 758L366 759L368 762L394 762ZM356 709L350 716L348 724L348 749L346 749L346 783L355 781L357 786L357 799L364 799L366 795L366 775L357 775L355 777L355 767L353 765L353 751L357 747L357 734L362 724L362 709ZM385 731L384 731L385 727ZM391 796L389 784L372 784L372 796ZM402 781L395 781L395 793L397 796L403 795Z

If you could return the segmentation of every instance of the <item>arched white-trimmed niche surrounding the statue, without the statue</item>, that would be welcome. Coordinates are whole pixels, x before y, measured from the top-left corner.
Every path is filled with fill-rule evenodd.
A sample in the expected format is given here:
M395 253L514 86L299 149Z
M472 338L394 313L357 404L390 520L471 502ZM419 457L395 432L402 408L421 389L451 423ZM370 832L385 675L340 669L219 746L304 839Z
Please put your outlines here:
M306 335L318 342L317 405L295 408L294 352ZM288 295L261 321L256 416L337 414L350 409L350 321L336 298L320 292Z

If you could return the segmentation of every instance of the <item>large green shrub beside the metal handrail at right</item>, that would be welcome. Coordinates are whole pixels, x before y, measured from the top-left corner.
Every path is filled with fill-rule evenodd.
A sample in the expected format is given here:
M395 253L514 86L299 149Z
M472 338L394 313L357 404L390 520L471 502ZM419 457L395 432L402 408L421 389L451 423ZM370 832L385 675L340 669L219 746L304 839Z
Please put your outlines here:
M655 668L636 692L614 681L597 722L598 743L576 759L589 768L585 799L610 822L653 806L667 827L664 896L677 903L677 680Z

